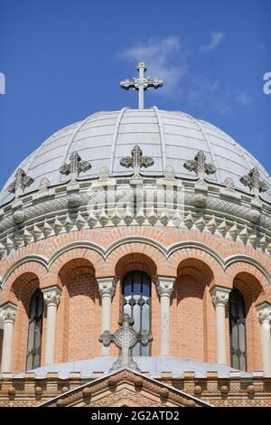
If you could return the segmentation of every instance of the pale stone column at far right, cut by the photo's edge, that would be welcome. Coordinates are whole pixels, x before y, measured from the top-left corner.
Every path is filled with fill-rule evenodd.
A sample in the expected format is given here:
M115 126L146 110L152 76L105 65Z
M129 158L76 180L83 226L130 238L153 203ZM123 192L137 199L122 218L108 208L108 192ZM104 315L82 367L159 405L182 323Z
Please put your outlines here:
M271 304L264 302L257 306L257 314L261 324L261 345L263 369L267 376L271 376Z

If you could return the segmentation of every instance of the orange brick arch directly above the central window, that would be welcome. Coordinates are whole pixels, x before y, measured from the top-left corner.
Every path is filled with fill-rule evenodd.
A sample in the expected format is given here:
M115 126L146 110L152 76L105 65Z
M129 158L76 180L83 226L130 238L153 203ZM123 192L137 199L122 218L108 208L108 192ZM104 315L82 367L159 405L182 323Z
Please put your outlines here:
M175 270L168 269L167 260L158 248L152 245L145 244L144 242L130 241L121 246L117 246L115 250L112 250L107 257L107 261L104 269L98 269L97 274L104 276L116 276L119 273L119 264L124 261L133 261L133 256L136 261L143 264L148 264L149 268L155 274L162 276L175 276ZM140 259L142 259L140 261ZM142 266L143 267L143 266ZM150 271L149 271L150 273Z

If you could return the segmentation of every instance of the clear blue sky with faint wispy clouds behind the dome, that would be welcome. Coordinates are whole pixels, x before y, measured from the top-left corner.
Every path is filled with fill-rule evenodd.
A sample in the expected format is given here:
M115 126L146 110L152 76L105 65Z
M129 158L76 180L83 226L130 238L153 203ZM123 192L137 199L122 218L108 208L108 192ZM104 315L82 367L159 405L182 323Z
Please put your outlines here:
M145 107L209 120L270 174L270 16L270 0L0 0L0 186L52 132L136 107L118 82L138 60L164 79Z

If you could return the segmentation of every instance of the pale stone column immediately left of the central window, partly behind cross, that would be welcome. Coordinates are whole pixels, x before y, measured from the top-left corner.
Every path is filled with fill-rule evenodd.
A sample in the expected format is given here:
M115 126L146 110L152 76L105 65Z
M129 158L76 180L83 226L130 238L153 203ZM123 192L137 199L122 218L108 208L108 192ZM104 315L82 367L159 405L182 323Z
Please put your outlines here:
M101 297L101 334L111 330L111 300L115 294L115 278L98 278L98 292ZM110 347L101 345L101 355L109 355Z

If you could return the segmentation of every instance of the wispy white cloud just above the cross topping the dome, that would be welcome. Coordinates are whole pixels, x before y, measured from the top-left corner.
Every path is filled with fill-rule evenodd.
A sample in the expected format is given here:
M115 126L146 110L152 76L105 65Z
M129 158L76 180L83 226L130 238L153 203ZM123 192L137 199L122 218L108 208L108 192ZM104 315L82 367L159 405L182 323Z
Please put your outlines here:
M135 63L145 61L147 75L164 80L163 90L158 90L160 94L175 94L180 90L180 81L188 71L182 44L175 36L152 37L145 44L135 45L117 56Z

